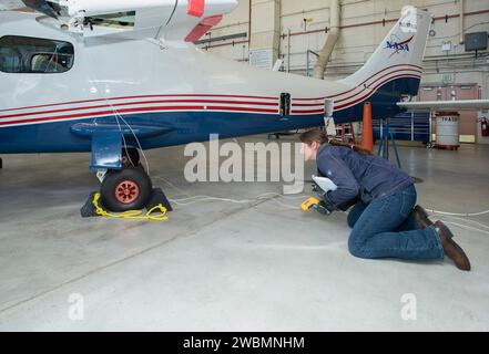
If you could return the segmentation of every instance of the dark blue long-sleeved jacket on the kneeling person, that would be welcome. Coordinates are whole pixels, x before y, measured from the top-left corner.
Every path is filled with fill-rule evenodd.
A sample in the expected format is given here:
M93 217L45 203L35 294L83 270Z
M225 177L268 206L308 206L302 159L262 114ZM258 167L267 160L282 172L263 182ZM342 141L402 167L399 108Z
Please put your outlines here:
M326 195L336 207L356 198L369 204L412 185L412 178L390 162L379 156L359 154L348 147L322 145L316 163L319 175L338 186L338 189Z

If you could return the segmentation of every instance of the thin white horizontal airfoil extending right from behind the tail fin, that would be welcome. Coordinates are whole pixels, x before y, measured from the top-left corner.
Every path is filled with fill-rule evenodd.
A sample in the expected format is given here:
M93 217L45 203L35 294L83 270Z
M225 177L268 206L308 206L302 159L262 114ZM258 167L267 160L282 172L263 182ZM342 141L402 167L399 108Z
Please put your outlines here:
M486 111L489 100L399 102L397 105L409 111Z

